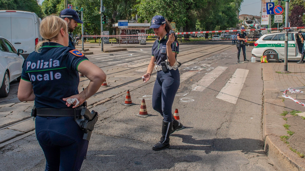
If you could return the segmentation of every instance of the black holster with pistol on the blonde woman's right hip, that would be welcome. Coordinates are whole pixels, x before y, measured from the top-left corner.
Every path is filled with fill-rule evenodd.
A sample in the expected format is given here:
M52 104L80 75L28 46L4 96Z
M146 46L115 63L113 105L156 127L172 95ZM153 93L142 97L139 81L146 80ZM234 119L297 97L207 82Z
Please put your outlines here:
M74 113L75 122L78 124L81 130L84 131L84 140L90 140L94 125L97 122L98 118L98 113L94 110L90 112L86 106L82 108L81 116L76 116L76 112Z

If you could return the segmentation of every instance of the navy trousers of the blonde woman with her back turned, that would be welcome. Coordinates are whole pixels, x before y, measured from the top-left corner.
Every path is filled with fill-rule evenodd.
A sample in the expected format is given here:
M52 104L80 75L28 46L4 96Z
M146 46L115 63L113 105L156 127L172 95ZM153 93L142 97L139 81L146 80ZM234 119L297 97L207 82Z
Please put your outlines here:
M45 171L78 171L87 153L88 140L74 117L36 116L37 140L45 153Z

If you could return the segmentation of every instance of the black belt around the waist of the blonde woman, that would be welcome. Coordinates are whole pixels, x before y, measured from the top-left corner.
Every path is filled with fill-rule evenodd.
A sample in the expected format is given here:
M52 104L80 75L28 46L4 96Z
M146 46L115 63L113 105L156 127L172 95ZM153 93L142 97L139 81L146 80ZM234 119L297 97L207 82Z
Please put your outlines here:
M43 117L74 117L74 113L76 116L81 116L82 107L74 108L74 109L55 109L55 108L36 108L37 116Z

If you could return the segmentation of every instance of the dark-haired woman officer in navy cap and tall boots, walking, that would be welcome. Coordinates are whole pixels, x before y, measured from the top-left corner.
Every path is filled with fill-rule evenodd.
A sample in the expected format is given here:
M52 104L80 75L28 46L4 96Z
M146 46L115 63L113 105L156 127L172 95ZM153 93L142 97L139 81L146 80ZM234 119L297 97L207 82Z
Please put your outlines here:
M169 35L172 28L163 16L154 16L150 28L153 28L158 39L152 46L152 58L147 73L143 75L143 81L147 82L150 79L155 68L157 78L152 92L152 108L163 116L163 122L161 140L152 149L163 150L170 146L170 134L183 127L172 115L172 105L180 85L176 60L179 44L175 41L174 34Z

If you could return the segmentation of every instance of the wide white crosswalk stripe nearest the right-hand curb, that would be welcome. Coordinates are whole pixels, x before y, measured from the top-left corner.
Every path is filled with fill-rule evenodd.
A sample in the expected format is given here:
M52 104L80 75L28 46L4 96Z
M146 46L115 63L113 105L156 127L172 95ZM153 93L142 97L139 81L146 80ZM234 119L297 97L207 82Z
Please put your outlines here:
M216 98L236 104L248 73L249 70L247 69L236 69L232 77L229 79L227 84L224 85L224 87L220 90Z

